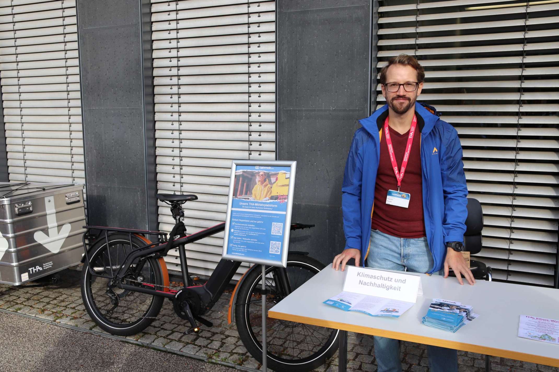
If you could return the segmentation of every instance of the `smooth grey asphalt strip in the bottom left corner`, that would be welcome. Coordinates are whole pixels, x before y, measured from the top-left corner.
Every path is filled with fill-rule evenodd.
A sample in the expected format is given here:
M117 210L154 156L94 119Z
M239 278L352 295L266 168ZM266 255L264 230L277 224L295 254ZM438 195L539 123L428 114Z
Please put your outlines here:
M2 372L239 372L21 314L0 312L0 335Z

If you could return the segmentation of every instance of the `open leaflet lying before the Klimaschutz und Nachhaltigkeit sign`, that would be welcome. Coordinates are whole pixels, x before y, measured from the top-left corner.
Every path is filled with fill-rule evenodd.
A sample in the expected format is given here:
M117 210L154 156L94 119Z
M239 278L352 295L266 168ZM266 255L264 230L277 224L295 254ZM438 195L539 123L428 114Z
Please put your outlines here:
M393 318L399 317L414 306L413 302L397 301L353 292L339 293L323 303L340 308L343 311L358 311L372 317Z

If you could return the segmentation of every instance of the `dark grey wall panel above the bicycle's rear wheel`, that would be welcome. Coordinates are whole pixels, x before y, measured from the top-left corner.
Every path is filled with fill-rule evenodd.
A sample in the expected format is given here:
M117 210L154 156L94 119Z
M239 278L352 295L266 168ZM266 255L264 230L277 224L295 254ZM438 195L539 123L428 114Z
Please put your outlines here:
M77 2L91 225L155 226L149 226L148 211L154 211L147 202L155 187L148 187L154 182L155 151L153 107L145 108L145 94L153 97L144 86L151 78L143 76L144 56L151 55L143 44L145 6L142 0Z

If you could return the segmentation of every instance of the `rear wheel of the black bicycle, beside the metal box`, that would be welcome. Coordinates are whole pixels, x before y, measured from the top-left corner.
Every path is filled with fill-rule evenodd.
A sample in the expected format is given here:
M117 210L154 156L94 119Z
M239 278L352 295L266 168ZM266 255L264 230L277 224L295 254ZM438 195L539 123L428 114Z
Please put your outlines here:
M132 246L134 246L134 249L144 245L145 242L143 240L132 236ZM89 250L88 256L94 271L111 275L111 266L114 273L130 250L129 235L113 233L108 235L108 244L104 237L95 242ZM107 263L108 259L110 259L109 264ZM134 261L133 264L138 265L139 260ZM134 266L134 269L137 270L140 267L139 276L142 276L141 281L143 283L150 287L163 285L163 275L158 260L150 257L143 266ZM132 276L131 273L127 274L121 279L121 282L137 285L135 282L130 282L132 278L137 280L138 276ZM119 288L108 290L107 284L109 282L109 279L91 275L86 260L83 264L80 287L83 304L91 319L102 330L112 335L131 336L143 331L159 314L164 298ZM116 307L115 303L111 303L113 298L116 298ZM134 307L136 300L139 300L139 302Z

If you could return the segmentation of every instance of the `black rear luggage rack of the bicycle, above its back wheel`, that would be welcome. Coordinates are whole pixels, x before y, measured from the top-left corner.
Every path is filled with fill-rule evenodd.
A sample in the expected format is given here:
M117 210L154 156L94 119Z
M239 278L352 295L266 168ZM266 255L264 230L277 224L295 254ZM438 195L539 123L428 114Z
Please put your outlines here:
M162 232L162 231L150 231L150 230L135 230L132 228L120 228L120 227L105 227L105 226L83 226L83 228L86 229L86 232L83 233L83 237L82 237L82 241L83 241L83 249L85 251L84 253L84 257L87 260L87 268L89 270L89 273L93 276L98 276L100 278L106 278L106 279L119 279L119 278L115 278L115 270L116 269L116 274L120 273L120 270L122 269L122 265L124 265L126 263L126 261L128 260L128 257L137 251L143 250L143 249L147 249L150 247L154 247L154 246L158 246L161 244L165 244L167 243L168 239L167 239L167 233L166 232ZM122 261L122 264L120 264L120 266L113 266L112 262L111 262L111 255L108 255L108 260L109 260L109 267L111 269L111 276L107 276L107 275L100 275L100 274L96 274L95 270L92 268L92 263L91 263L91 259L89 259L89 249L91 249L92 245L94 243L97 243L98 241L100 241L100 239L104 239L107 247L108 247L108 238L111 236L111 234L116 233L116 232L124 232L128 234L128 240L130 242L130 252L128 252L128 254L126 255L126 258ZM138 247L136 249L132 248L132 235L141 235L143 237L145 237L146 235L153 235L153 236L157 236L157 240L155 242L150 242L149 244L146 244L144 246Z

